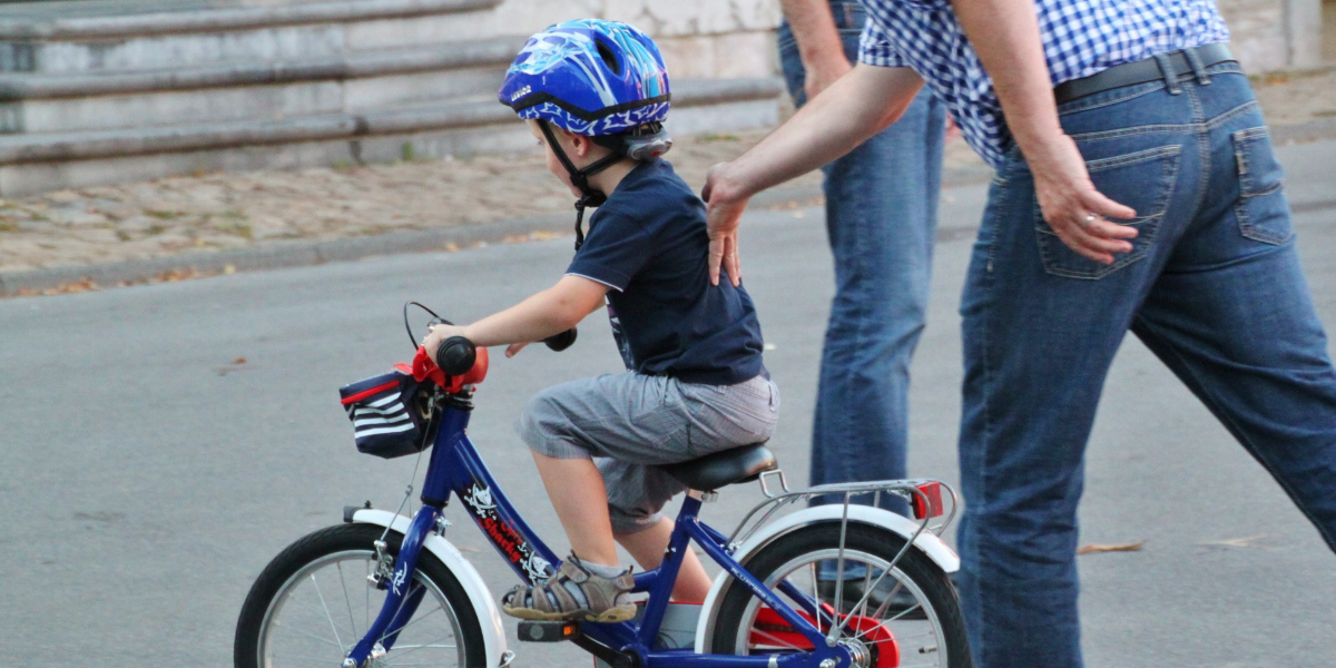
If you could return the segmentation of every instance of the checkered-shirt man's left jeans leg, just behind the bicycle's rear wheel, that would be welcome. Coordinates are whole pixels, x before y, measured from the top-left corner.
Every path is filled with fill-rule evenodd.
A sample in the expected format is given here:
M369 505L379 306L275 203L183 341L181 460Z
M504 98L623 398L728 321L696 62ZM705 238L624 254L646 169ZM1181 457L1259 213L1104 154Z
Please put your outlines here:
M1196 135L1096 134L1128 119L1190 128L1188 102L1148 92L1088 104L1063 126L1096 187L1138 212L1133 251L1106 266L1063 246L1011 154L990 191L961 303L957 584L981 668L1082 665L1075 549L1086 440L1109 365L1201 192ZM1097 139L1081 143L1081 131Z

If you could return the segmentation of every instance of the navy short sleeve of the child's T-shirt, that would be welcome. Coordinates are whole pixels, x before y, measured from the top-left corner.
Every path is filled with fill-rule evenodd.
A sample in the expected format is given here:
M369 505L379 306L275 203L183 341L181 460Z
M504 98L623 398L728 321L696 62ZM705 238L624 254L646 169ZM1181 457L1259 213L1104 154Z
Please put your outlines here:
M623 291L653 257L653 236L631 215L603 208L589 219L589 234L566 275L597 281Z

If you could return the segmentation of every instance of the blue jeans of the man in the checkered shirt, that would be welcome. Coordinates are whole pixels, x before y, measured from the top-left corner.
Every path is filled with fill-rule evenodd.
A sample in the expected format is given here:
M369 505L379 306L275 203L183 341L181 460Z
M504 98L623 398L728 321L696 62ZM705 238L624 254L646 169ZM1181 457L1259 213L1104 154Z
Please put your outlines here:
M1059 108L1096 188L1137 211L1114 265L1054 236L1019 151L991 186L961 305L958 585L981 668L1082 665L1082 457L1129 329L1336 549L1336 371L1281 170L1238 67L1201 75Z

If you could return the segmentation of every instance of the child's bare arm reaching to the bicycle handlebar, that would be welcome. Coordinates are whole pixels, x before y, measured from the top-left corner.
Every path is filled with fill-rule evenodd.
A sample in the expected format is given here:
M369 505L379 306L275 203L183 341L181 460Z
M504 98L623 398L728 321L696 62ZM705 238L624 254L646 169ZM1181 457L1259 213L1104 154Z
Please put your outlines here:
M465 337L478 346L510 343L506 357L530 341L560 334L593 313L608 294L608 286L584 277L566 275L557 285L473 325L437 325L422 341L436 361L436 349L450 337Z

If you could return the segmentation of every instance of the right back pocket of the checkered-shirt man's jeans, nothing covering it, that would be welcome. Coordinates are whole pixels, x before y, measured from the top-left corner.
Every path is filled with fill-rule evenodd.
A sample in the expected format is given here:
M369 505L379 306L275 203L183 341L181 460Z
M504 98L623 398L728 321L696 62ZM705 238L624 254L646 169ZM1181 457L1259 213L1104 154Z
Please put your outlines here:
M1230 138L1238 167L1238 200L1234 202L1238 231L1255 242L1276 246L1288 242L1295 228L1285 203L1285 175L1271 150L1271 131L1255 127Z

